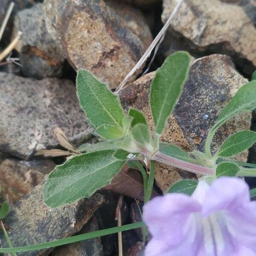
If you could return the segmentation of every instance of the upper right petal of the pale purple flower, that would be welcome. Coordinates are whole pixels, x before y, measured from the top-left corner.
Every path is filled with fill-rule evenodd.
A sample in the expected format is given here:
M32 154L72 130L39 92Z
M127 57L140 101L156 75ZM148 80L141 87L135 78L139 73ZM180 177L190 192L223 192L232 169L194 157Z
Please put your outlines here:
M202 201L202 215L219 210L232 210L250 202L249 187L235 177L219 177L212 182Z

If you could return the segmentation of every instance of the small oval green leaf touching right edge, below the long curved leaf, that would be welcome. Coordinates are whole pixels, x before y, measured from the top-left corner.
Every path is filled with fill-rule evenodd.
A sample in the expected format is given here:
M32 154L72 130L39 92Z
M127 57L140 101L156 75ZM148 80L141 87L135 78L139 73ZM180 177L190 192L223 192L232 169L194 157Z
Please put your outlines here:
M219 157L231 157L250 148L256 142L256 132L239 131L231 135L221 146L217 155Z

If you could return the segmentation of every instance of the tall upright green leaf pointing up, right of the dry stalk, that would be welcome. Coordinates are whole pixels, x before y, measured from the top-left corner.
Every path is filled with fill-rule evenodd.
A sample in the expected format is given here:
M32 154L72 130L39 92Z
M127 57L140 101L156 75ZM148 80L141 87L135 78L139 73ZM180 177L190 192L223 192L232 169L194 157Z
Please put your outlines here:
M151 84L150 106L155 124L155 133L162 134L166 122L180 98L191 63L187 52L175 52L166 58L156 71Z

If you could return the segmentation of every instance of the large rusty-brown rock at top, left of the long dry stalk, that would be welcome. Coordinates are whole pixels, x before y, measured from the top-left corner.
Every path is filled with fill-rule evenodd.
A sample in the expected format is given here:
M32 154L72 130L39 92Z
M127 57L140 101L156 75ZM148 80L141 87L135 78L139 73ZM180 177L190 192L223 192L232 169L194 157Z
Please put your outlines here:
M131 6L109 7L103 0L46 0L44 5L47 29L70 64L92 71L111 89L151 42L143 15Z

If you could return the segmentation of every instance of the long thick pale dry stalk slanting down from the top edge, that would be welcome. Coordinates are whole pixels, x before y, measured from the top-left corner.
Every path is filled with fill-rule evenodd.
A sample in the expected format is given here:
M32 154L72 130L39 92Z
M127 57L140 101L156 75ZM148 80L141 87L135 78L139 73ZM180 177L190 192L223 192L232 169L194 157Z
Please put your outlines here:
M172 14L170 15L169 19L166 21L166 23L164 24L163 28L160 30L160 32L157 34L157 36L154 38L153 42L151 43L151 45L148 47L148 49L145 51L145 53L143 54L143 56L140 58L140 60L137 62L137 64L133 67L133 69L128 73L128 75L125 77L125 79L121 82L121 84L119 85L119 87L117 87L115 94L118 94L123 87L125 86L125 84L129 81L129 79L131 78L131 76L136 72L136 70L138 70L142 64L147 60L147 58L150 56L152 50L154 49L154 47L157 45L157 43L161 40L161 38L163 37L163 35L165 34L166 30L168 29L173 17L176 15L176 13L178 12L178 10L180 9L181 5L183 3L183 0L179 0L179 2L177 3L177 6L175 7L175 9L173 10Z

